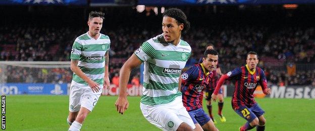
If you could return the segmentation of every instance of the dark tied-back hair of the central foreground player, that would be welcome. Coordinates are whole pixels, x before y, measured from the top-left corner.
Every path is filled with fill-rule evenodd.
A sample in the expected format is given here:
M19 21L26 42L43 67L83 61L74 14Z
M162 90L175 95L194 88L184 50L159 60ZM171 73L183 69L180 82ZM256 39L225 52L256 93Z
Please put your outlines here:
M178 25L184 24L184 29L182 30L182 33L187 33L190 28L190 23L187 21L187 17L182 10L177 8L168 9L163 13L163 17L165 16L172 17L177 20Z

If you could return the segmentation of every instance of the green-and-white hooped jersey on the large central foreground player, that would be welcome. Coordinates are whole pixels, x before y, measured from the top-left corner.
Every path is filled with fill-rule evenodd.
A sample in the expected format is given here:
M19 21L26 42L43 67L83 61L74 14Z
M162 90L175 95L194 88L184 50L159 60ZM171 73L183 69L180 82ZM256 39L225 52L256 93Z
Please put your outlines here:
M167 43L161 34L143 42L134 53L144 61L142 104L168 104L182 96L178 79L191 54L186 41L180 40L175 46Z

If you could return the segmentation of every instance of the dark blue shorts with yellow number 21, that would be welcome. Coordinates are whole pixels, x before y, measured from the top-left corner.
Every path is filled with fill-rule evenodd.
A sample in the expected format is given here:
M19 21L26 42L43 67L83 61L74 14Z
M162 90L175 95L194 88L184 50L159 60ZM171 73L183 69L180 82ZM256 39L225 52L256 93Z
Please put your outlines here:
M247 106L240 106L240 108L235 110L235 112L246 119L248 122L251 122L256 117L259 117L265 113L265 111L261 109L257 103L250 108L248 108Z

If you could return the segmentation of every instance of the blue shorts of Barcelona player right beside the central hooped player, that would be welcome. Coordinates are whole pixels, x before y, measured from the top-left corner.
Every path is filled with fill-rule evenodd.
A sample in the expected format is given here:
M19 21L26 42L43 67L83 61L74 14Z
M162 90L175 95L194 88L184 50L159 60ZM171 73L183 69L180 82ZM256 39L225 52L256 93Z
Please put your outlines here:
M194 124L199 123L201 126L211 120L208 114L202 108L188 111Z

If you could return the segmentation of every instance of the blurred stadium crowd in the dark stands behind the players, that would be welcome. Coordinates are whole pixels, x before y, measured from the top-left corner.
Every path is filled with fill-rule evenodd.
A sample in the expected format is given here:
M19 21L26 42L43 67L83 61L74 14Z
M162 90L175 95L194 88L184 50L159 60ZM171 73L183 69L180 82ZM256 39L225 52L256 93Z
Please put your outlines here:
M188 13L189 14L189 13ZM110 78L119 73L126 58L137 49L144 40L162 32L159 25L159 15L146 13L131 13L128 18L137 18L134 21L120 22L113 26L104 22L102 33L111 39L110 49ZM193 16L188 16L190 18ZM148 23L141 23L146 20ZM155 21L155 23L154 23ZM152 24L153 23L153 24ZM194 25L183 39L192 47L192 55L187 67L196 63L202 56L207 44L214 44L219 51L219 64L223 71L227 67L235 67L244 62L248 51L259 54L259 66L266 70L267 78L277 85L314 85L315 69L311 66L315 62L315 34L312 26L271 26L271 25ZM258 26L259 25L259 26ZM87 26L86 26L87 27ZM74 39L86 32L87 29L59 26L0 26L0 60L15 61L70 61L70 52ZM287 70L274 70L269 67L273 63L285 66L287 62L308 63L310 71L298 70L288 74ZM39 70L39 69L37 69ZM71 71L54 72L40 69L37 74L30 74L28 69L10 70L8 78L15 82L69 82ZM223 72L225 73L225 72ZM133 76L139 75L134 73ZM132 77L132 76L131 76ZM36 78L36 79L35 79ZM47 78L47 80L45 80ZM49 79L48 79L49 78ZM38 79L38 80L37 80ZM36 80L36 81L32 81ZM8 79L8 82L11 82Z

